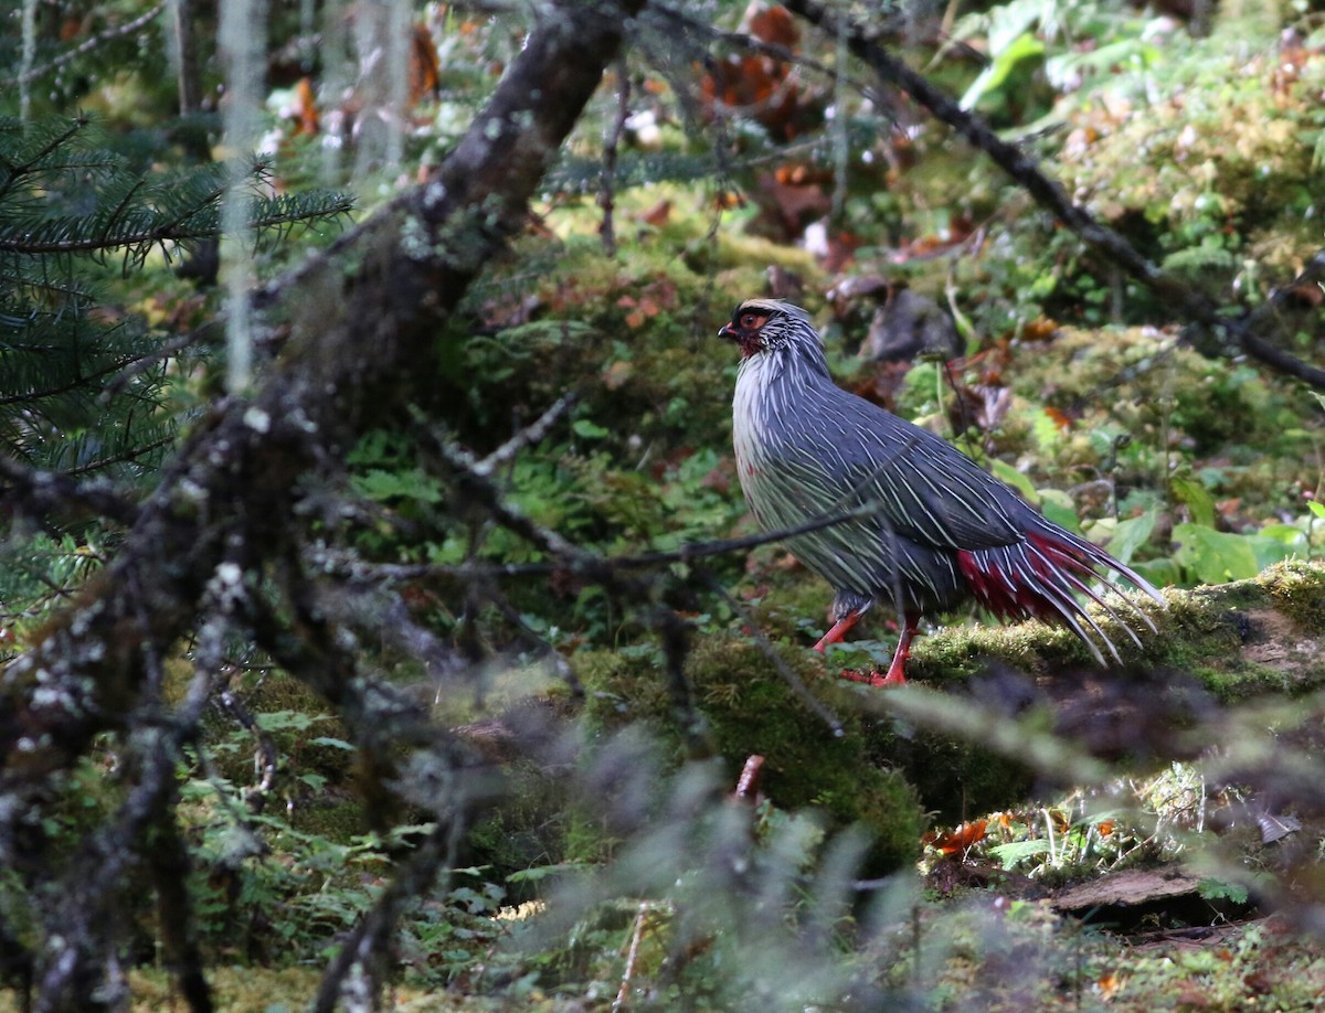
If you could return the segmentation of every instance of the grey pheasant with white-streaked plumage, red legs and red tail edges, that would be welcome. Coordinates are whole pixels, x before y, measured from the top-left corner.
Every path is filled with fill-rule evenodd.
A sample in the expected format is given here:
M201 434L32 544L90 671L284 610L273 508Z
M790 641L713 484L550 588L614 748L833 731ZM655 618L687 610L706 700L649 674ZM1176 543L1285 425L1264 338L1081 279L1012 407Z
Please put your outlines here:
M1096 640L1117 659L1113 642L1076 593L1101 604L1140 644L1129 622L1086 581L1098 579L1118 591L1096 572L1104 568L1162 605L1159 592L1098 547L1045 520L934 433L840 389L819 334L799 306L747 299L718 335L741 347L734 444L741 487L759 524L776 531L855 511L787 540L836 592L836 621L816 650L841 640L882 601L905 622L888 675L874 682L905 682L920 617L975 597L1004 618L1064 622L1098 661L1104 658Z

